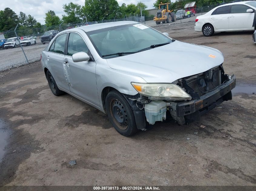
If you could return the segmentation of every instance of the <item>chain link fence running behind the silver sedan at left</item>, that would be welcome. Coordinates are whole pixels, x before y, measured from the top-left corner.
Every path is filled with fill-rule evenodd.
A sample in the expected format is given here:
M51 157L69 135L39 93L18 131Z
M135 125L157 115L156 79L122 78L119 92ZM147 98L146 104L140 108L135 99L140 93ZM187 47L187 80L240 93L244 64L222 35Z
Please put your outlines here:
M2 32L0 33L0 71L39 61L41 53L48 46L49 41L62 30L116 21L137 21L145 24L145 17L130 15L112 20L92 22L86 20L79 23L62 23L50 27L16 27Z

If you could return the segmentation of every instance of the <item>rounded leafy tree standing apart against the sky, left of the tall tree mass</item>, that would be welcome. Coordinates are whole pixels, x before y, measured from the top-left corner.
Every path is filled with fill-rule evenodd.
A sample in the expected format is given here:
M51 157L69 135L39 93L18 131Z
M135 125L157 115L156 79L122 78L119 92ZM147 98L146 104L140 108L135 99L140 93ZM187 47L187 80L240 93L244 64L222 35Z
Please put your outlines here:
M68 3L63 5L63 11L66 14L62 15L62 20L65 23L74 23L78 22L82 18L82 7L77 3Z

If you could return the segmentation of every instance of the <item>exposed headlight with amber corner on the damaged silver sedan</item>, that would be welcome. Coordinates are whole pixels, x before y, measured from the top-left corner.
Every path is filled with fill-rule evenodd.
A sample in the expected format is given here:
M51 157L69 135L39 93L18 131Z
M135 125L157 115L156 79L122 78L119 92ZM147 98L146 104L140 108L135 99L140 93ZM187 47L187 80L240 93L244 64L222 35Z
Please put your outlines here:
M131 85L151 100L191 100L191 96L176 84L131 82Z

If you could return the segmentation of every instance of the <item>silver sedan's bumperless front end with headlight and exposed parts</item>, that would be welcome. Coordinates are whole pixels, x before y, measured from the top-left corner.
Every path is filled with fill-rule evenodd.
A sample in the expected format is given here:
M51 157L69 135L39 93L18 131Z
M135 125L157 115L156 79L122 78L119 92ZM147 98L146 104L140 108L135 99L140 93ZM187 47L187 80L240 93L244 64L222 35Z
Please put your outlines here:
M135 83L138 94L125 95L134 110L138 129L170 116L180 125L194 120L223 101L231 100L236 77L224 74L222 64L172 83ZM169 112L169 114L167 113Z

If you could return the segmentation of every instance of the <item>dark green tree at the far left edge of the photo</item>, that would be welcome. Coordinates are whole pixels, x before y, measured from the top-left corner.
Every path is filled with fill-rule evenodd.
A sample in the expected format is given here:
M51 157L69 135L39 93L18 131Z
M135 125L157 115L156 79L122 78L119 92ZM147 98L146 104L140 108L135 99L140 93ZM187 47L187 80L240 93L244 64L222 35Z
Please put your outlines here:
M0 11L0 30L10 30L18 24L18 15L10 8Z

